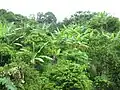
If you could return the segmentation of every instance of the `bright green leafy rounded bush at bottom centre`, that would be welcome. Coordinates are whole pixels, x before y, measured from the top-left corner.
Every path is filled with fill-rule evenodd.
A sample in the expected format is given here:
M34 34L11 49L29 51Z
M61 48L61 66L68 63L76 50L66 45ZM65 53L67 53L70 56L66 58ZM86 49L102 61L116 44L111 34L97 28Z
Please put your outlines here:
M63 60L43 73L41 90L92 90L86 69L86 65Z

